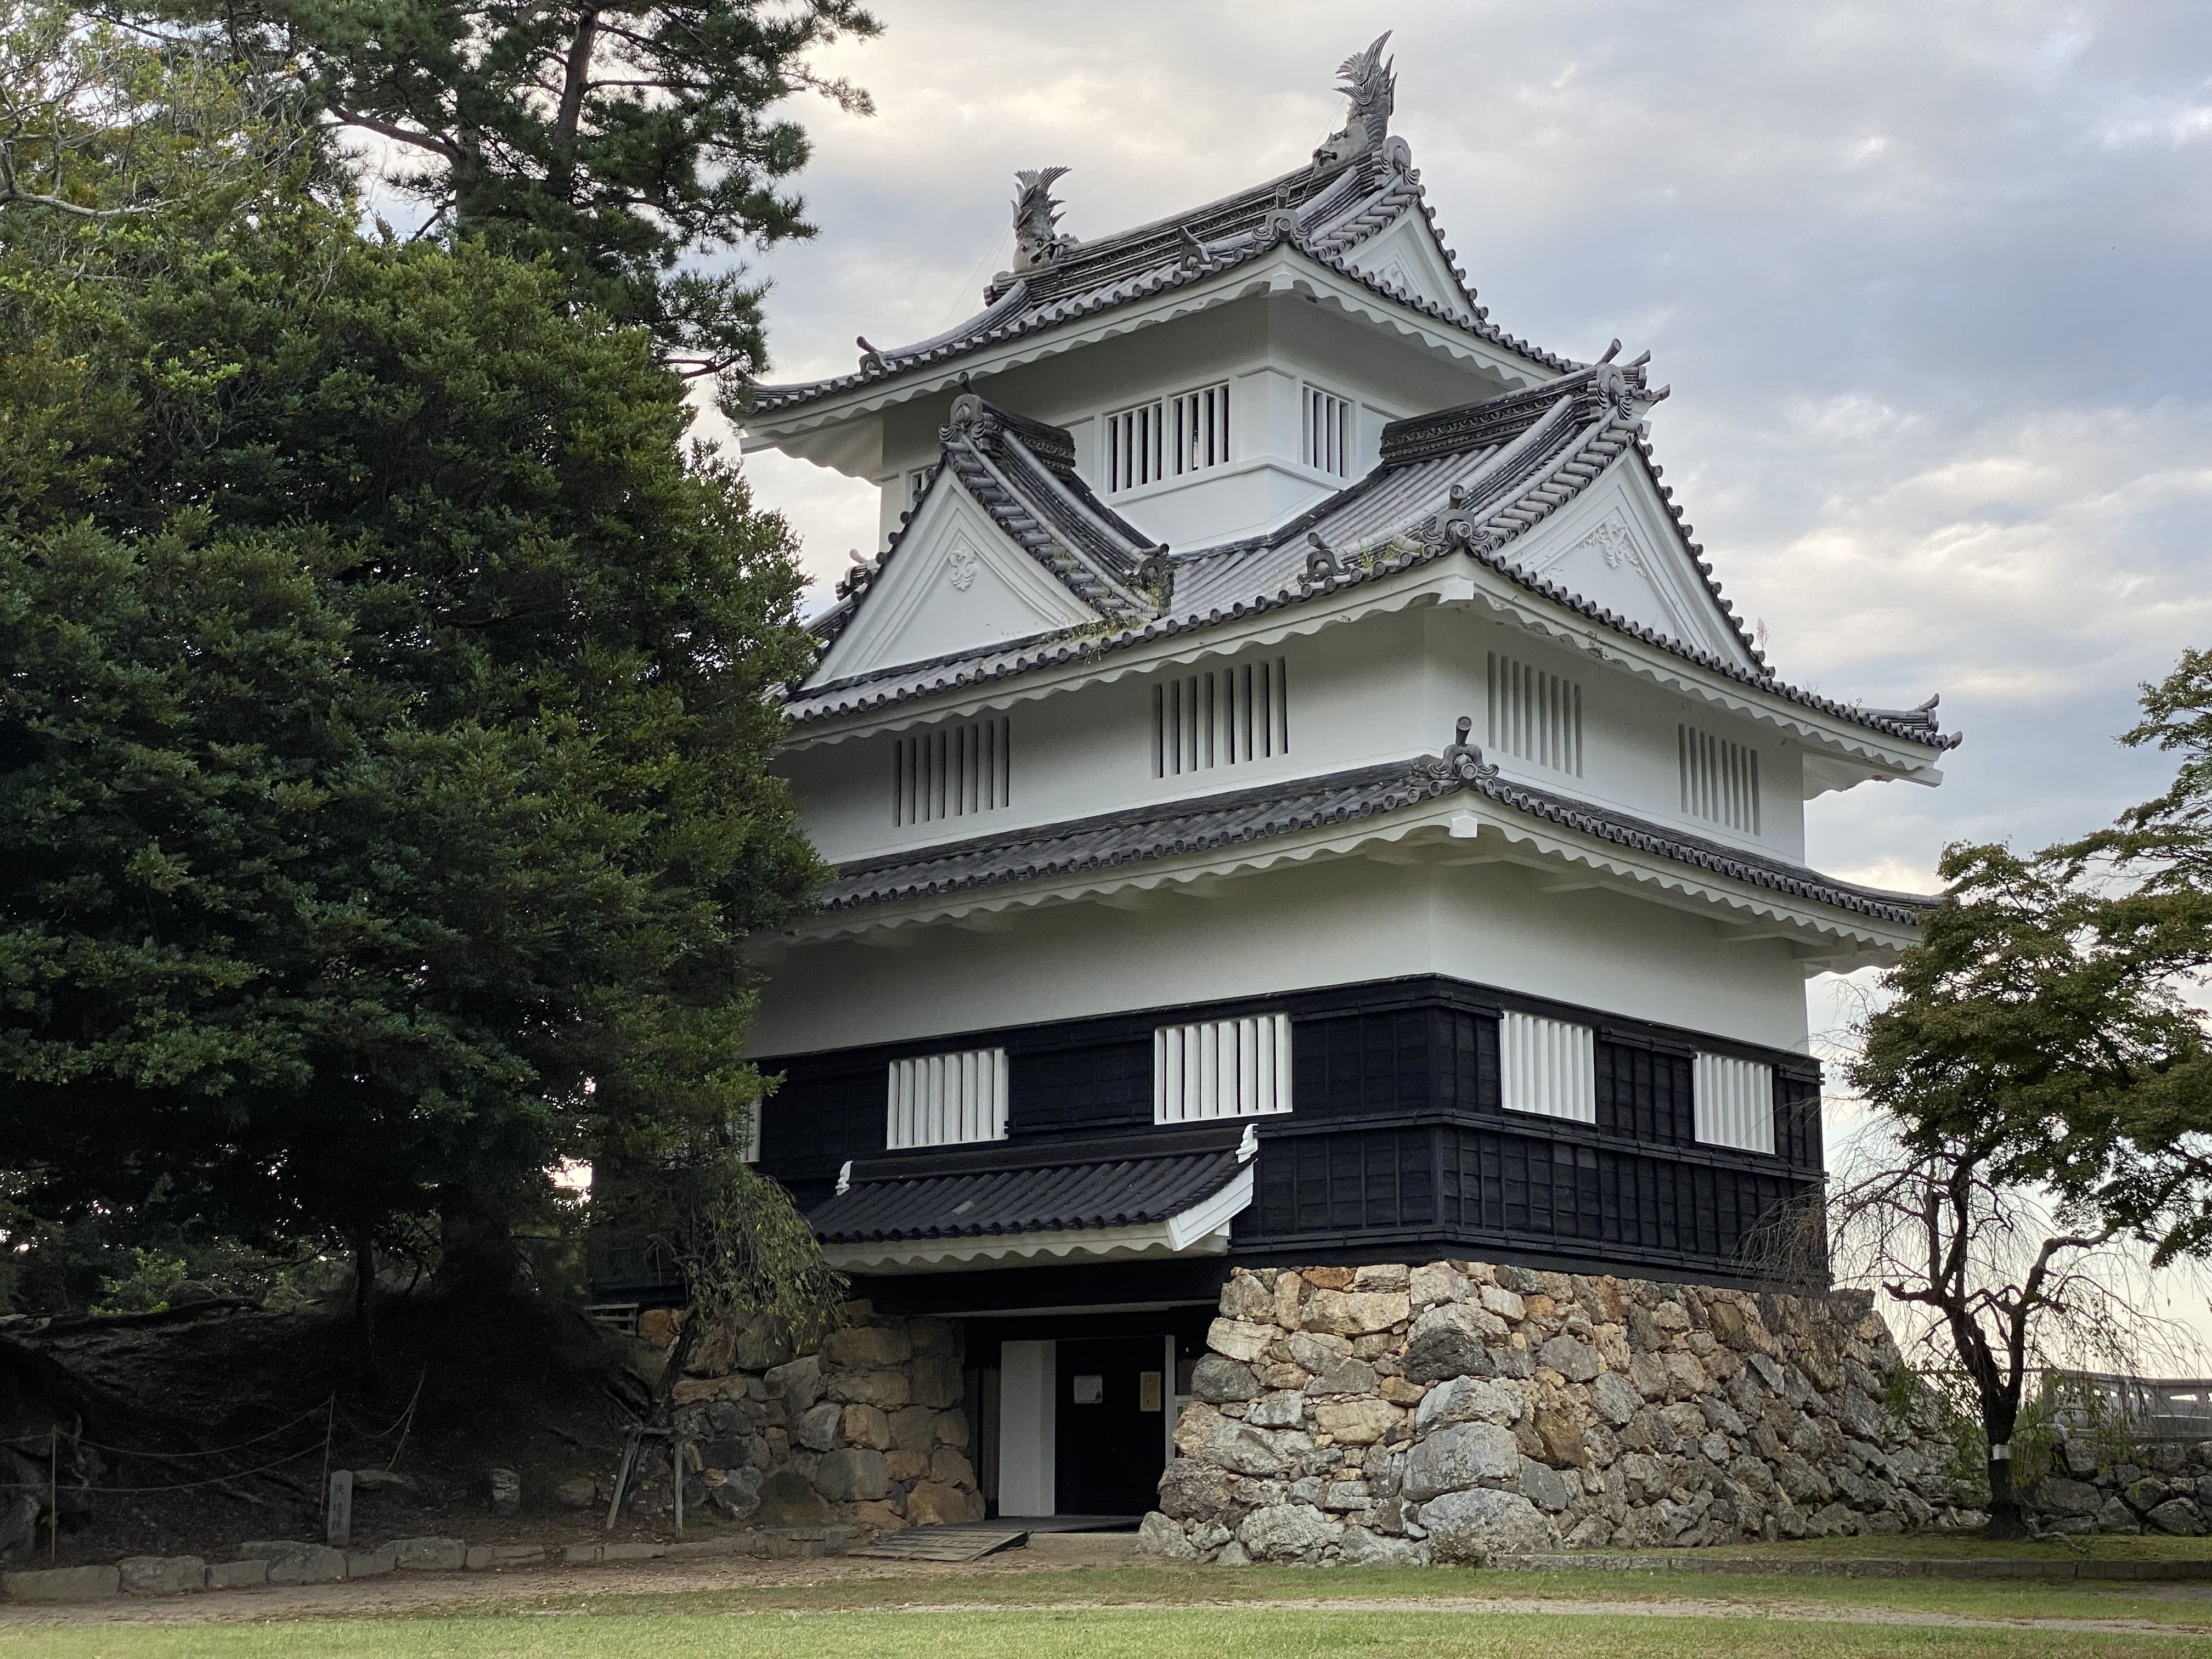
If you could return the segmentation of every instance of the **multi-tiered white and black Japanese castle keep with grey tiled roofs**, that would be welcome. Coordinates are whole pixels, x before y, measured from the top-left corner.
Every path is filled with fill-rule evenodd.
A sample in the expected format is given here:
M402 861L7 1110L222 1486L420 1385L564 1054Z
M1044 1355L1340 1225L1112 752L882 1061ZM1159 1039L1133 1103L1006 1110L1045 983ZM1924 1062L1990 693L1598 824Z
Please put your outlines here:
M1805 980L1913 936L1922 900L1805 867L1803 803L1938 783L1933 699L1767 666L1655 460L1646 358L1498 327L1383 42L1340 73L1310 164L1135 230L1062 230L1064 168L1022 173L975 316L745 422L883 491L787 699L836 874L754 1026L759 1164L872 1305L754 1398L880 1524L1139 1515L1181 1447L1276 1482L1237 1513L1438 1535L1378 1520L1367 1451L1515 1376L1484 1343L1537 1303L1517 1376L1559 1387L1604 1329L1679 1329L1575 1287L1692 1287L1661 1301L1699 1334L1734 1307L1823 1170ZM1407 1358L1436 1310L1460 1383ZM1332 1365L1358 1411L1301 1418ZM1274 1475L1199 1458L1283 1398ZM1316 1444L1303 1482L1354 1502L1283 1495ZM1175 1548L1223 1548L1206 1502Z

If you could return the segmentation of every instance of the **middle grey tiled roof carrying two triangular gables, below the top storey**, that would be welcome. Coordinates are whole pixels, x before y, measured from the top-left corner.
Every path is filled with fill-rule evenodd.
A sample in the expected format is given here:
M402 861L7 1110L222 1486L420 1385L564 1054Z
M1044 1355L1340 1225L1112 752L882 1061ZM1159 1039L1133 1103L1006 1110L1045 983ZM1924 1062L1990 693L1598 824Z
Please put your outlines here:
M1703 546L1692 540L1672 500L1668 511L1681 546L1697 562L1743 659L1663 635L1522 568L1515 542L1615 465L1641 467L1663 500L1672 495L1644 440L1644 416L1659 396L1663 392L1646 387L1641 365L1599 363L1526 392L1396 420L1385 429L1383 460L1367 478L1267 535L1172 555L1166 606L1146 613L1130 604L1110 613L1119 628L1048 633L807 686L785 703L785 712L794 726L805 726L1042 668L1097 661L1152 639L1290 608L1447 555L1469 555L1528 593L1741 686L1885 737L1955 748L1958 734L1940 734L1927 710L1860 708L1776 679L1712 580ZM1079 480L1068 478L1066 484L1071 493L1082 491ZM1115 535L1124 549L1141 544L1141 535L1088 491L1079 500L1088 502L1084 511L1091 522L1119 526ZM1321 555L1323 549L1327 557ZM1124 588L1133 602L1141 602L1150 595L1130 588L1137 571L1126 564L1130 557L1135 555L1124 553L1124 562L1108 568L1119 573L1126 566L1130 575L1124 577ZM818 630L823 622L836 626L838 615L816 622Z

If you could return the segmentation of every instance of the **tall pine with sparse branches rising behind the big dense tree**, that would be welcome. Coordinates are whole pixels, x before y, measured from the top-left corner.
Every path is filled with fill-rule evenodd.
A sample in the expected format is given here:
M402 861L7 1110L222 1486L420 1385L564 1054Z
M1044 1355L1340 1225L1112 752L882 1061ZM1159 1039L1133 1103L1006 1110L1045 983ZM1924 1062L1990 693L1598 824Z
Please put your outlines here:
M580 303L644 323L692 374L768 363L739 248L810 237L790 179L807 135L776 113L867 95L807 55L878 22L856 0L161 0L124 13L296 75L314 119L396 150L449 230L551 257Z

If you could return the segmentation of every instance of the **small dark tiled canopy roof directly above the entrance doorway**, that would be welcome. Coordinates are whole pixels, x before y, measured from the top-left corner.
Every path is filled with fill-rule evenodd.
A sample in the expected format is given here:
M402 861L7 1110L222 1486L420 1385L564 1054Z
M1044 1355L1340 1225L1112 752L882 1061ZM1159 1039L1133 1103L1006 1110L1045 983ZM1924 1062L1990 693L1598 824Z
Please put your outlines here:
M1217 1137L1219 1139L1219 1137ZM1004 1150L1000 1150L1004 1157ZM1168 1221L1206 1203L1243 1168L1219 1148L854 1181L807 1221L832 1245L1097 1232Z

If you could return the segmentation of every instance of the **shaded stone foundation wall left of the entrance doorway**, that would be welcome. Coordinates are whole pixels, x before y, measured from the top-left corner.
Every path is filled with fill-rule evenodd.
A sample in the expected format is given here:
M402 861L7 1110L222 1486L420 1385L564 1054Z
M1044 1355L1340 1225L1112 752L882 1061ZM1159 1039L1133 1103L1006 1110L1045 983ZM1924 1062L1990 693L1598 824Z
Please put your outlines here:
M960 1327L845 1305L818 1354L770 1327L710 1332L675 1385L684 1506L754 1526L894 1531L982 1520L960 1407ZM637 1515L675 1509L670 1458L641 1458Z

